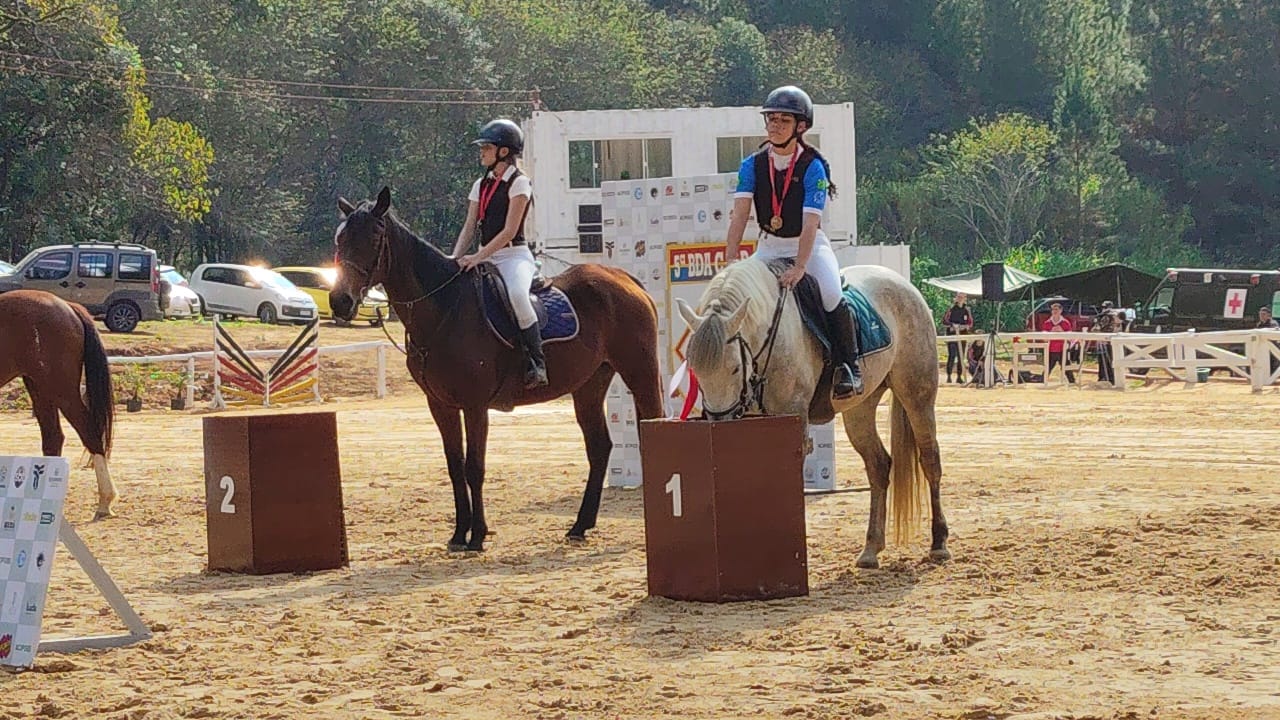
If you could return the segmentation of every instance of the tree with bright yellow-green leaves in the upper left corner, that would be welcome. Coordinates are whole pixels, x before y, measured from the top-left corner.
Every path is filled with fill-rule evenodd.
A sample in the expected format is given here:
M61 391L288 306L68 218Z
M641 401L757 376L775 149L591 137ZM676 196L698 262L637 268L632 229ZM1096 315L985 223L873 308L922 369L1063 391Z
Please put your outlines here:
M0 15L0 228L19 256L119 237L138 213L207 210L204 138L152 118L115 8L24 0Z

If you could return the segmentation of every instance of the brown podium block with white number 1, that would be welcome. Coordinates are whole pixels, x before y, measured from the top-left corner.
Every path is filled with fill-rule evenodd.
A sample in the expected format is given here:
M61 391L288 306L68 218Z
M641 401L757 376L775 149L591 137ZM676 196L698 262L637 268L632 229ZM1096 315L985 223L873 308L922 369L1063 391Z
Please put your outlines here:
M804 441L794 415L641 421L649 594L809 594Z

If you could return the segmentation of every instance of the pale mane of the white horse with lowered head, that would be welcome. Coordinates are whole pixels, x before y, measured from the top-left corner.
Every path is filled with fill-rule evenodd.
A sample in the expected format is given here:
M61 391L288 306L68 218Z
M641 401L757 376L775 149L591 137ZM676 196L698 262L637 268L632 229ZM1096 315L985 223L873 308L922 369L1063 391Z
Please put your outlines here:
M772 320L777 297L778 279L763 260L748 258L717 273L698 301L698 313L705 313L705 320L689 337L685 352L689 364L698 368L721 365L728 348L726 324L730 315L750 300L742 327L765 327Z

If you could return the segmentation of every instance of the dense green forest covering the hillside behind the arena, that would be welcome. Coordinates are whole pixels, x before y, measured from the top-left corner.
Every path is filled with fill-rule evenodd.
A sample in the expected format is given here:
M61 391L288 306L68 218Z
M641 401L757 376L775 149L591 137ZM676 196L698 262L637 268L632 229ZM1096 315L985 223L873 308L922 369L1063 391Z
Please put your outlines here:
M383 183L452 238L497 114L782 83L854 101L860 237L916 279L1280 264L1263 0L0 0L0 256L319 260Z

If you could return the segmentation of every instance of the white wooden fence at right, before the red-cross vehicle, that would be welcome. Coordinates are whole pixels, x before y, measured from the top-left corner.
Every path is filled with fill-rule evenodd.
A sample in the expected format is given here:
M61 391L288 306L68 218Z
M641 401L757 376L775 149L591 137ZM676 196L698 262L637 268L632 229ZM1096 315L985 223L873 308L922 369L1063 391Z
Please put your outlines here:
M1048 377L1048 343L1055 341L1083 345L1106 342L1111 347L1115 387L1124 389L1124 379L1137 370L1160 370L1188 384L1201 382L1201 372L1226 370L1231 377L1249 382L1261 391L1280 382L1280 331L1251 329L1222 332L1185 332L1172 334L1087 333L1087 332L1005 332L996 334L938 336L938 343L992 340L1005 343L1012 354L1012 380L1020 382L1020 370L1043 369ZM1036 360L1028 365L1028 360ZM1074 363L1064 363L1071 372L1082 372L1085 354ZM988 347L984 356L987 387L996 379L996 354Z

